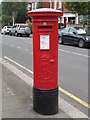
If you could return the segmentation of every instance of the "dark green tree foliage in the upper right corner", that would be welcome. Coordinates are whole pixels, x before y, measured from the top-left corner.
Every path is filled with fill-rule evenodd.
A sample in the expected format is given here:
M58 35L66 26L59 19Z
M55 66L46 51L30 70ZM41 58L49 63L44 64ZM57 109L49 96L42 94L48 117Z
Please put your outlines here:
M83 15L84 23L89 22L89 2L66 2L65 8L67 8L69 11L72 11L72 13L78 13L79 15Z

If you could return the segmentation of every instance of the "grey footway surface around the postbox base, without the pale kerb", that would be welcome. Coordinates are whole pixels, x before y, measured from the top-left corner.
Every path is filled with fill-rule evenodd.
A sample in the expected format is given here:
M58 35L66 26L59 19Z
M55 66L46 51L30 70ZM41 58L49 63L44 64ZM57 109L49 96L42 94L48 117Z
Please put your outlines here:
M5 67L2 67L2 72L3 118L69 118L60 109L56 115L44 116L36 113L33 110L32 88Z

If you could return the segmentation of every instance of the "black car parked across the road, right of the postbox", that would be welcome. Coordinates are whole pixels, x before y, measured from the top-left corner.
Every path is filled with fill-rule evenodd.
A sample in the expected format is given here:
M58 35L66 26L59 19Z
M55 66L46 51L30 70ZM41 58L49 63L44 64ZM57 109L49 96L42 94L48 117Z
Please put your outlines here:
M67 27L58 32L58 42L60 44L76 44L79 47L90 45L90 37L86 35L86 31L79 27Z

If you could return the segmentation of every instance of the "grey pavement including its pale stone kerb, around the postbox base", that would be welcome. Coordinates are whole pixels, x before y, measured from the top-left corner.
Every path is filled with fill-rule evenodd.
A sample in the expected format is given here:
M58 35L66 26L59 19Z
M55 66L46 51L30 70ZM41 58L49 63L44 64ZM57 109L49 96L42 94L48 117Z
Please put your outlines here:
M59 96L56 115L40 115L33 110L32 78L0 59L2 64L2 118L84 118L88 117ZM60 94L59 94L60 95Z

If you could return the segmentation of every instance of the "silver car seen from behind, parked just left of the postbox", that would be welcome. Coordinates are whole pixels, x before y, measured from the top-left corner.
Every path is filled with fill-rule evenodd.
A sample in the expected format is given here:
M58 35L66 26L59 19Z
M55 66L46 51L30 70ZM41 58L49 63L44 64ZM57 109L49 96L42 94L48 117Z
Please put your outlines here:
M26 35L27 37L29 37L30 33L31 33L31 30L28 24L15 24L10 30L10 35L15 35L15 36Z

